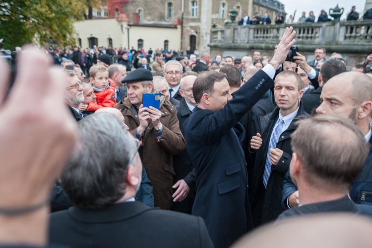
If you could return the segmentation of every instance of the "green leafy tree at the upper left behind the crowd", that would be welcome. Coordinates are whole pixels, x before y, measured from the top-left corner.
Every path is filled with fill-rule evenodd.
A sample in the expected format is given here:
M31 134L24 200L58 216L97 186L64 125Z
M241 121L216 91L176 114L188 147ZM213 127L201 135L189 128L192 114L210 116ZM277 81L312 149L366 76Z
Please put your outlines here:
M83 20L89 6L99 7L100 0L1 0L1 47L14 49L25 43L73 45L73 22Z

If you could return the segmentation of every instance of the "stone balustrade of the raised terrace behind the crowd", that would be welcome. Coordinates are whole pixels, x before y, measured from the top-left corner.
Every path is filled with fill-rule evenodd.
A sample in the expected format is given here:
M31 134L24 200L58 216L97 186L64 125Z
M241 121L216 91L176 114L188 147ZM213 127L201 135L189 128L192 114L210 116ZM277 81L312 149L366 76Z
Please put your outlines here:
M271 49L278 44L287 26L290 25L228 24L225 28L212 29L209 46ZM318 46L330 51L341 49L348 53L366 53L372 50L372 20L301 23L292 26L297 32L297 44L303 50L311 51Z

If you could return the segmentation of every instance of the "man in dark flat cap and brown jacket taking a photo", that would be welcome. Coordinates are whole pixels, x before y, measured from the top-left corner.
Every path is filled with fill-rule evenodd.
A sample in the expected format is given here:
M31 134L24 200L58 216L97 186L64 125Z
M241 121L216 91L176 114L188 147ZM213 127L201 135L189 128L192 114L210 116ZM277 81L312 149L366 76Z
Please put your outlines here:
M164 95L160 109L143 107L142 94L155 92L152 74L138 68L123 80L127 96L115 107L122 111L130 133L141 141L139 154L153 185L155 207L170 209L172 206L173 155L186 148L180 131L176 107Z

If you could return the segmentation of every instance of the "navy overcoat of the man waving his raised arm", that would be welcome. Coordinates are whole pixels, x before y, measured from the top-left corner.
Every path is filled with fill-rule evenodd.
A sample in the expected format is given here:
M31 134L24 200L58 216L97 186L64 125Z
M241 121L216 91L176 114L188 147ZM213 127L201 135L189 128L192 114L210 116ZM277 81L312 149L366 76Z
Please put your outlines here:
M247 169L238 121L274 84L258 71L217 112L196 107L184 124L186 148L196 172L192 215L203 217L216 248L225 248L252 227Z

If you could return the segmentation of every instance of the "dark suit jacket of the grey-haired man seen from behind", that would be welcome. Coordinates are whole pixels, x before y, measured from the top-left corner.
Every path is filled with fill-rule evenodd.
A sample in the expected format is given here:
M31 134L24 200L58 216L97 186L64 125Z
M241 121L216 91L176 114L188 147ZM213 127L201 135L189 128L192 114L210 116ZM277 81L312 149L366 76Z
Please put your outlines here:
M49 241L74 248L213 247L200 217L153 209L138 201L53 213Z

